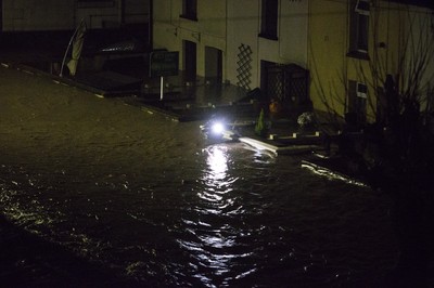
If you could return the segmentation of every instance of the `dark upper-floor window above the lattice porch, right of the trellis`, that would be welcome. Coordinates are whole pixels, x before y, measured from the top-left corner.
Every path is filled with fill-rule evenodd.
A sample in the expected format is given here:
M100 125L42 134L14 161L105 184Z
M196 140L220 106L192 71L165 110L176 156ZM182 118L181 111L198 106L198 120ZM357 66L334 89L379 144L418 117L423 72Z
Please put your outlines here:
M259 37L278 40L278 0L261 0Z

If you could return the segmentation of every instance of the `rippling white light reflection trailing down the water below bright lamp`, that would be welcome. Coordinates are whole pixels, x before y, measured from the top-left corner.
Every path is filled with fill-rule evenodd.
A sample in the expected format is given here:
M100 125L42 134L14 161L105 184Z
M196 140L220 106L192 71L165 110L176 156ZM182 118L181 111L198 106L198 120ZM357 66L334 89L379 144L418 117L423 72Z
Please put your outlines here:
M246 276L254 269L233 270L240 259L252 251L244 251L238 243L240 227L233 227L233 217L241 217L243 208L232 195L238 178L229 172L229 146L213 145L203 150L206 167L197 187L201 199L193 208L195 221L183 219L190 237L179 239L182 249L191 256L192 275L209 287L228 285L230 279ZM200 205L199 205L200 204ZM238 271L233 275L233 271Z

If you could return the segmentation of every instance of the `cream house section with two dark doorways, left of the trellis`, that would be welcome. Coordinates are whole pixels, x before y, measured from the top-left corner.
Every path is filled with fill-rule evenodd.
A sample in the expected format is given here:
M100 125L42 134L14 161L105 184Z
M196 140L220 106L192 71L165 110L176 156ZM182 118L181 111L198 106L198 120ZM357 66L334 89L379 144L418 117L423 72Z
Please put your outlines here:
M154 1L153 48L180 52L186 82L227 79L228 1Z

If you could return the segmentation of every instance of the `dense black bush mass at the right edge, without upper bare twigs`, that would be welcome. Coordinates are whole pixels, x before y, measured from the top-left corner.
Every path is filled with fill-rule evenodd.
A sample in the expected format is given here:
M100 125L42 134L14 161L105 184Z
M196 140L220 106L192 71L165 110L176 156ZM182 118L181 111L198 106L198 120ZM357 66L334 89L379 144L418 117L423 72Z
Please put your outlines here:
M400 259L392 278L404 287L423 287L427 286L424 280L430 275L434 248L432 117L422 115L418 101L399 94L393 81L384 89L390 100L387 116L363 127L363 144L353 155L361 161L369 184L391 195L395 202Z

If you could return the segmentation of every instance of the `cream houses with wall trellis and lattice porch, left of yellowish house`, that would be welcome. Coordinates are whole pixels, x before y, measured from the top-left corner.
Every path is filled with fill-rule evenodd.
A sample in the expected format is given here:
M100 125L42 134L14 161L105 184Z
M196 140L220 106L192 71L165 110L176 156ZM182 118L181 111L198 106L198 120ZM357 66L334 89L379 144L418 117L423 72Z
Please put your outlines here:
M307 1L158 0L153 11L154 49L180 52L186 81L308 102Z

